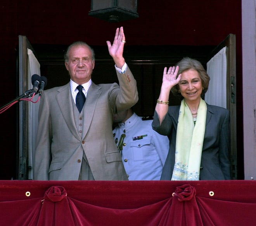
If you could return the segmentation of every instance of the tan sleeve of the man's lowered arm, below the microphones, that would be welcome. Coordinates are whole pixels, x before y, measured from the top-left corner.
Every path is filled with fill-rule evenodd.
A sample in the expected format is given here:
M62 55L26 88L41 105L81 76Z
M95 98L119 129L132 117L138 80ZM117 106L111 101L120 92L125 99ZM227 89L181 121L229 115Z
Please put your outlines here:
M33 179L49 180L50 147L52 139L52 126L47 101L47 92L40 100L38 111L38 130L36 134L36 147L33 155Z

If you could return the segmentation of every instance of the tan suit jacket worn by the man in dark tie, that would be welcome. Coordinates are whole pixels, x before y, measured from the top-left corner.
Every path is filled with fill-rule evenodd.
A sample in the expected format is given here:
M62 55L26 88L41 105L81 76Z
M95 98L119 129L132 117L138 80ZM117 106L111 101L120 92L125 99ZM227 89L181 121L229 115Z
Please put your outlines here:
M128 67L117 76L119 85L90 86L81 112L81 131L70 84L45 90L38 114L34 180L78 180L84 152L95 180L128 180L113 139L113 114L136 104L138 92Z

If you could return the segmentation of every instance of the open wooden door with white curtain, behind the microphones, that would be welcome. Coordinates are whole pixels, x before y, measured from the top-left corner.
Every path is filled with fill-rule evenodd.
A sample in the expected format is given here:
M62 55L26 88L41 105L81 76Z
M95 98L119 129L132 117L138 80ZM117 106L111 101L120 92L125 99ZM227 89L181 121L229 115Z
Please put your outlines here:
M29 56L30 55L30 56ZM40 65L32 66L29 57L36 56L35 51L26 36L19 36L19 57L18 57L18 78L19 94L25 93L32 88L31 76L40 75ZM39 63L38 63L39 64ZM33 101L38 98L34 97ZM35 146L35 136L37 130L38 103L27 101L19 102L19 148L17 150L17 162L19 163L17 178L19 180L29 180L33 177L32 172L32 150Z

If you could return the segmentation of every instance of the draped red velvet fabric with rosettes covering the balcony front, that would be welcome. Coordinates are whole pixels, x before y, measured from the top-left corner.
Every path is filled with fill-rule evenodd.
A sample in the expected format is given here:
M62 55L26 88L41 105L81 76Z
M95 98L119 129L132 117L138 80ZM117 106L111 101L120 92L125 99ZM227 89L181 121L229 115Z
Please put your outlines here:
M255 226L254 181L0 181L1 226Z

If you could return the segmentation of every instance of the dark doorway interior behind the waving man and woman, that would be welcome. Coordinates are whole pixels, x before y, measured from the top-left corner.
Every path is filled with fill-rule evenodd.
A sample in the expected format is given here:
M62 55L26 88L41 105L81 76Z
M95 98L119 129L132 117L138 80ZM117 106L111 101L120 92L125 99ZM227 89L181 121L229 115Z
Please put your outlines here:
M41 75L47 77L47 87L61 86L69 82L64 66L63 55L67 46L34 45ZM95 68L92 75L94 83L118 82L114 62L109 56L107 46L92 46L95 51ZM185 56L199 60L206 68L208 56L216 46L125 46L124 56L135 79L139 93L138 103L134 106L140 116L154 113L164 67L175 65ZM171 96L170 104L179 104L180 100Z

